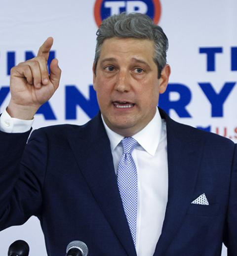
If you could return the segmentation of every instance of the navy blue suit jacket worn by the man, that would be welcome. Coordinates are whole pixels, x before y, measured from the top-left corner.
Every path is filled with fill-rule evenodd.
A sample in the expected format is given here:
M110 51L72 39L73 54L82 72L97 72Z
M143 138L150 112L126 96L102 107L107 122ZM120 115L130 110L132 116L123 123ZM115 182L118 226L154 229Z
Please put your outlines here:
M154 256L220 256L223 241L236 256L236 145L160 114L168 203ZM28 136L0 132L0 229L36 215L49 256L72 240L89 256L136 256L100 114L83 126L40 128L25 146ZM191 204L203 193L209 206Z

